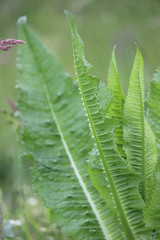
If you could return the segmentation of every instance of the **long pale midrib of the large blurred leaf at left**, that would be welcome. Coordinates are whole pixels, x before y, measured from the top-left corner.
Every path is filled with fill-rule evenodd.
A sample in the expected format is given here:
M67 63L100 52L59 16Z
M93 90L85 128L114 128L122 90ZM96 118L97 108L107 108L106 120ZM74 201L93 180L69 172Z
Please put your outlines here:
M81 175L80 175L80 173L79 173L79 171L78 171L78 169L76 167L76 164L74 163L73 157L72 157L72 155L70 153L69 147L67 145L67 142L66 142L66 140L64 138L64 135L63 135L63 132L61 130L58 118L57 118L57 116L55 114L55 111L53 109L51 97L50 97L50 94L49 94L49 91L48 91L48 87L47 87L47 85L45 83L45 80L44 80L44 77L43 77L43 73L41 72L41 69L39 68L39 66L37 64L36 55L33 54L34 53L34 48L32 47L32 44L29 44L30 41L29 41L29 36L27 34L26 28L24 27L23 30L24 30L26 38L28 39L27 42L28 42L28 45L29 45L29 47L31 49L32 56L33 56L33 58L35 60L37 70L40 73L41 82L43 83L43 88L44 88L44 92L45 92L45 95L46 95L46 98L47 98L47 103L48 103L49 109L51 111L51 116L53 118L53 121L55 121L55 123L56 123L57 130L58 130L59 135L61 137L61 141L62 141L62 144L63 144L64 149L66 151L66 154L67 154L67 156L68 156L68 158L70 160L71 166L72 166L72 168L74 170L74 173L75 173L75 175L76 175L76 177L77 177L77 179L79 181L79 184L81 185L81 187L83 189L83 192L84 192L84 194L85 194L85 196L86 196L86 198L87 198L87 200L88 200L88 202L89 202L89 204L90 204L90 206L91 206L91 208L92 208L92 210L93 210L93 212L94 212L94 214L95 214L95 216L97 218L97 221L98 221L98 223L100 225L100 228L101 228L101 230L103 232L103 235L104 235L105 239L106 240L111 240L111 238L109 237L109 233L106 231L106 227L105 227L105 225L103 223L103 220L101 219L100 213L99 213L98 209L96 208L96 205L94 204L94 201L93 201L90 193L87 190L87 187L86 187L86 185L85 185L85 183L84 183L84 181L83 181L83 179L82 179L82 177L81 177Z

